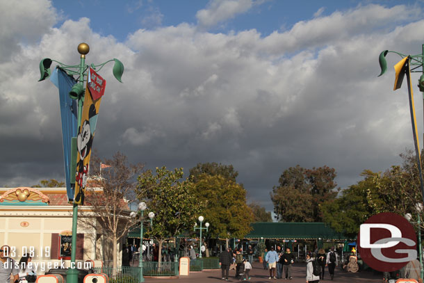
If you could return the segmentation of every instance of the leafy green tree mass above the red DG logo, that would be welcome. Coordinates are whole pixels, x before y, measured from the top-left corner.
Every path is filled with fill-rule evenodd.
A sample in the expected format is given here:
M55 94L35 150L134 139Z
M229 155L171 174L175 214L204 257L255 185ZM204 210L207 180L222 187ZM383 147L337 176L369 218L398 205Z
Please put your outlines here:
M416 215L416 203L421 202L418 166L411 152L401 156L402 165L393 165L383 173L364 170L364 179L343 190L336 200L323 203L325 222L337 232L355 238L359 225L377 213Z

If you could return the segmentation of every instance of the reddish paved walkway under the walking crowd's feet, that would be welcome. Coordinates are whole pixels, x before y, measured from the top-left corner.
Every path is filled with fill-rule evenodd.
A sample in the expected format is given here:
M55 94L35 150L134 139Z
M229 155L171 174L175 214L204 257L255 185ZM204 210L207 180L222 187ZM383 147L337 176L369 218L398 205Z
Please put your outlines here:
M250 271L251 280L246 282L255 282L255 283L266 283L266 282L287 282L287 283L304 283L306 277L306 264L293 264L292 268L292 277L293 280L284 280L277 279L271 280L268 279L269 271L263 270L262 264L255 262L253 264L253 269ZM229 281L228 282L243 282L243 280L236 280L234 278L235 270L229 271ZM174 283L174 282L223 282L221 280L221 270L203 270L202 272L190 273L188 276L180 276L178 279L165 279L165 278L145 278L145 282L148 283ZM334 280L329 279L329 274L327 269L325 270L325 279L320 280L320 282L334 282L334 283L381 283L382 282L382 273L373 273L368 271L363 271L359 273L347 273L341 268L336 268L334 275Z

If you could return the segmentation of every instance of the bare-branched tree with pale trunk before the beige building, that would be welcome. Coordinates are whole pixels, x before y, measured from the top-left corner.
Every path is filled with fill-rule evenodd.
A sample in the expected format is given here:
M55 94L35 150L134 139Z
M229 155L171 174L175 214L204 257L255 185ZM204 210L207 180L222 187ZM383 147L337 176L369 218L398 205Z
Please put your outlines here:
M102 169L101 163L106 168ZM136 177L143 168L142 164L129 163L127 156L120 152L114 154L112 159L101 160L97 155L91 157L85 202L92 207L92 211L81 211L83 216L88 217L80 217L79 220L85 225L101 229L101 234L111 241L113 268L117 267L117 244L127 235L129 228L140 221L140 218L129 217L131 211L128 201L136 197ZM97 223L90 220L92 213L99 219Z

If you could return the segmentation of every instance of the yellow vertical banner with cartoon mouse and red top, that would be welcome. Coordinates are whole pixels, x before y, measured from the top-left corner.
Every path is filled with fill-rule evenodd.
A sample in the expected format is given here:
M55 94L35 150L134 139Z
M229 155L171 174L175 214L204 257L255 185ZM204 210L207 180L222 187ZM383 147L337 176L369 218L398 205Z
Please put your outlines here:
M81 124L78 129L78 136L76 137L78 153L76 159L74 204L84 204L92 141L95 137L97 116L99 114L101 96L104 94L105 87L106 81L90 68L87 87L85 88Z

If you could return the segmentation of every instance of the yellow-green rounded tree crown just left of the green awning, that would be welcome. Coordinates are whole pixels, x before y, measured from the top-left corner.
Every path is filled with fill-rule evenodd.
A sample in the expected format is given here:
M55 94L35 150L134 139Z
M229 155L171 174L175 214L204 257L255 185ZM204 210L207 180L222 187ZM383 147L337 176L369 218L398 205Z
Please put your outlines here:
M203 173L197 176L192 192L206 203L202 215L211 224L209 235L243 238L250 232L254 219L252 209L247 206L245 189L234 179Z

